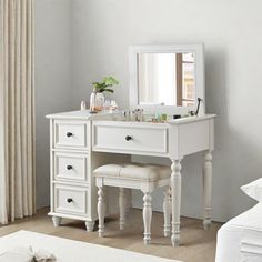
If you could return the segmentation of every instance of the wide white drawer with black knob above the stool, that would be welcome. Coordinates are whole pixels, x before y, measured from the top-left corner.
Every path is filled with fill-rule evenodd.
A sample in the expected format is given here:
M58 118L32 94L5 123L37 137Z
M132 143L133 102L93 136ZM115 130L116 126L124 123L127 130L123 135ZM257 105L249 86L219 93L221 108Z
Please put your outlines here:
M167 154L168 128L162 124L95 121L93 150L125 153Z

